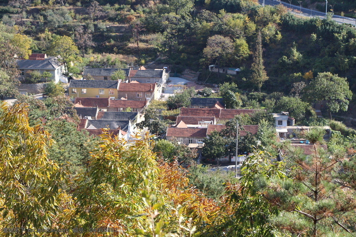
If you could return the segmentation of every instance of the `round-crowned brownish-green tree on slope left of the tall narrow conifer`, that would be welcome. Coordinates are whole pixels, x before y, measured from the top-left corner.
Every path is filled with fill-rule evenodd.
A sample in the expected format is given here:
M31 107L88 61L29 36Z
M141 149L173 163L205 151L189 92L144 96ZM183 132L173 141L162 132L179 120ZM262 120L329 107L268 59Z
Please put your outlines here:
M218 62L218 78L220 75L220 59L232 53L232 40L229 37L224 37L216 34L211 36L203 50L204 56L209 60L217 60Z

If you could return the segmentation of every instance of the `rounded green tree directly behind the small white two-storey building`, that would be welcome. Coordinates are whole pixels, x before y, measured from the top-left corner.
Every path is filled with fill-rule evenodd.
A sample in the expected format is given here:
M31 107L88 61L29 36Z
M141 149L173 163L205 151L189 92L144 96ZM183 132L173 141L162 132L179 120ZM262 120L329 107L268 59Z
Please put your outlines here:
M303 102L298 97L282 97L276 104L276 112L289 112L289 116L297 120L305 118L305 111L308 108L308 103Z

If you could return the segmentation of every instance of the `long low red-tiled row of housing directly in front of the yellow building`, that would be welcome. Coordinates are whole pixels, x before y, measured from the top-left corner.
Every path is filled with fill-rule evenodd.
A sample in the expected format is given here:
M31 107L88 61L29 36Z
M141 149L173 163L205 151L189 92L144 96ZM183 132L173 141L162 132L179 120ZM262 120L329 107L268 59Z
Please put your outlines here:
M131 112L138 112L142 111L147 104L146 99L110 99L110 97L77 97L74 101L74 107L98 107L102 111L126 111L127 108L130 108Z

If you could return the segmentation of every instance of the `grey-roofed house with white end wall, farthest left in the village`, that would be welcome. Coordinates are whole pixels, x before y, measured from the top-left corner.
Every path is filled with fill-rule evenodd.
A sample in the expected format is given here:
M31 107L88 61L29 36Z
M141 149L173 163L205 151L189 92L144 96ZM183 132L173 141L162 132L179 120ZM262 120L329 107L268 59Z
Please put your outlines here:
M45 54L43 54L45 55ZM32 56L32 57L31 57ZM67 77L62 75L64 71L64 65L60 61L58 61L58 57L48 57L47 56L38 56L31 55L30 59L18 59L16 60L17 66L21 71L21 76L25 76L27 71L40 71L41 73L48 71L51 72L52 76L48 77L47 81L53 80L54 82L59 82L60 80L63 82L67 81ZM46 81L45 78L41 79L42 81ZM25 92L23 92L25 93Z

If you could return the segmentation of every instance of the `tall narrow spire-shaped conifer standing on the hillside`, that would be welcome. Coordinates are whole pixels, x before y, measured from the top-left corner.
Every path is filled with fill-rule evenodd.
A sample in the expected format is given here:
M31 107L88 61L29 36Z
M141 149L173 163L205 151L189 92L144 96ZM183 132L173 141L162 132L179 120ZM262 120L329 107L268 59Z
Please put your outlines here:
M265 71L265 66L263 66L261 32L258 32L251 70L252 70L251 81L253 84L255 84L258 87L258 89L261 92L261 86L263 82L268 80Z

